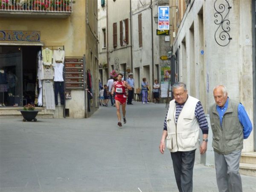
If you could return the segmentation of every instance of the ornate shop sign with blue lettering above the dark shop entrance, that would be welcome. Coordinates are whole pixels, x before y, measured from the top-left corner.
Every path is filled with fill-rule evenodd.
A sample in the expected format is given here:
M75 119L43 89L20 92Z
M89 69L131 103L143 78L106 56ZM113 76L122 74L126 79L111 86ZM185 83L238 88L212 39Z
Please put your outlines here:
M0 41L41 41L40 31L0 30Z

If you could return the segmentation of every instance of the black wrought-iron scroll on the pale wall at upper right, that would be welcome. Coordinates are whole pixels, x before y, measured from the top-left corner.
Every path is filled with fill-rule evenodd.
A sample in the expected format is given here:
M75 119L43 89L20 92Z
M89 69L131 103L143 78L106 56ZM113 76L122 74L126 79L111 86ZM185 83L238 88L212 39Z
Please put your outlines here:
M219 5L217 5L219 2ZM232 7L229 5L227 0L215 0L214 9L216 13L214 17L214 23L218 25L218 28L215 31L215 41L218 45L224 47L230 43L232 39L228 32L230 32L230 20L226 19L227 15L230 12Z

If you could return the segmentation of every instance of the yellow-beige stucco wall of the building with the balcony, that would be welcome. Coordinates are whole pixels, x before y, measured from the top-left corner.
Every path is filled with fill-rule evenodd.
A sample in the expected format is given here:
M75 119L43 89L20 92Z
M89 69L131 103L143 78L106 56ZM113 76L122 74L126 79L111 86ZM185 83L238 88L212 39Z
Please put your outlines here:
M40 31L41 32L41 44L42 46L62 46L64 45L66 57L83 57L86 54L86 61L90 60L90 50L93 52L94 57L97 58L98 51L95 38L91 37L88 29L88 23L91 28L97 33L96 16L89 21L90 16L87 17L87 10L93 10L94 1L76 1L73 3L73 13L67 18L52 18L41 16L40 18L33 17L33 13L29 17L0 17L0 29L1 30L22 30L22 31ZM88 4L86 4L88 3ZM97 2L96 2L97 4ZM86 9L87 8L87 9ZM97 12L97 8L96 8ZM88 19L89 18L89 19ZM87 22L88 21L88 22ZM96 29L96 30L95 30ZM11 42L0 41L0 44L9 45L32 45L35 42ZM93 62L95 64L95 59ZM94 80L98 78L98 70L95 65L87 66L91 69ZM98 85L95 81L93 89L95 90ZM94 96L92 103L96 106L97 95ZM72 90L72 99L66 100L66 108L69 109L70 117L82 118L85 116L84 107L84 91ZM93 108L88 114L90 116L97 108ZM58 113L57 111L55 111ZM57 117L61 117L61 114L55 114Z

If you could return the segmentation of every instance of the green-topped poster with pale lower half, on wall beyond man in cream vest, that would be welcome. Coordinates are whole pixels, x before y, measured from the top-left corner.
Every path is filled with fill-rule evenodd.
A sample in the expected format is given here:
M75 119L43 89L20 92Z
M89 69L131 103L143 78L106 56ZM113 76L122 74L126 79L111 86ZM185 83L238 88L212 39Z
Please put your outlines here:
M166 98L168 93L168 84L171 79L171 67L161 66L161 98ZM171 88L171 87L170 87Z

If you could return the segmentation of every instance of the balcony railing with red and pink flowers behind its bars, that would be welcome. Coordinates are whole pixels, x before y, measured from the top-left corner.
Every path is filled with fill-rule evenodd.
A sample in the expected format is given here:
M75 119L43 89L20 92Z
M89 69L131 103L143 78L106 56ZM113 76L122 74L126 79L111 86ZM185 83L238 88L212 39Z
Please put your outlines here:
M71 13L72 0L0 0L0 12Z

